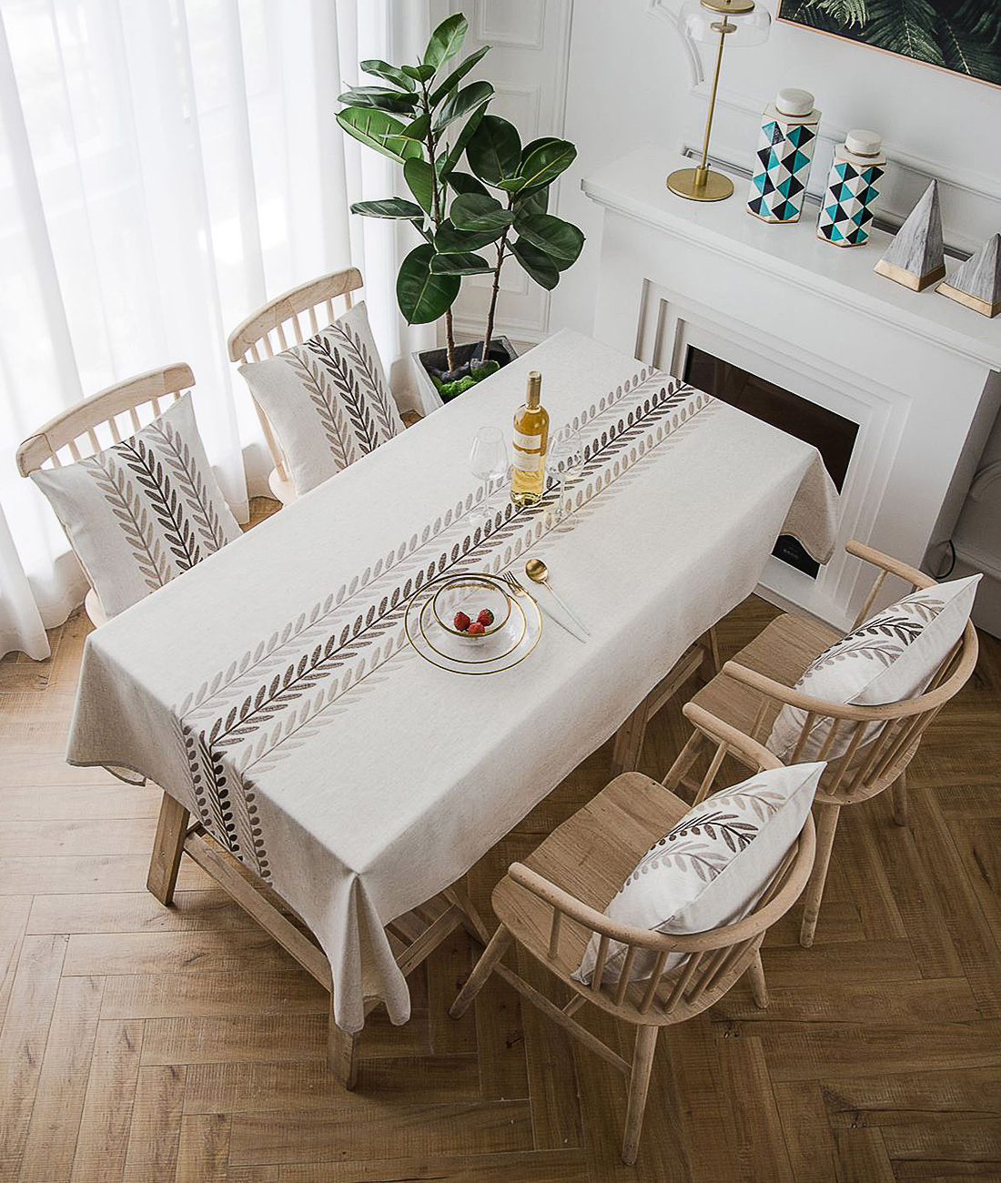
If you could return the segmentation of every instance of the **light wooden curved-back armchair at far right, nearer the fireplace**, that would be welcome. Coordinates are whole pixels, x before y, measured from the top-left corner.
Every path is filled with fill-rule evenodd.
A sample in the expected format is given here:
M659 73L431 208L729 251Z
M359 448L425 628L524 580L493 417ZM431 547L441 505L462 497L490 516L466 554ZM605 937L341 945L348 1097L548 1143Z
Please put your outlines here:
M868 615L887 575L904 580L911 586L910 590L936 586L935 580L917 568L860 542L851 541L845 549L878 568L852 631ZM767 739L784 705L799 707L806 712L806 718L789 756L790 764L801 758L809 732L824 720L828 722L829 732L820 752L811 758L827 759L835 736L847 739L844 755L828 761L816 794L816 862L806 891L800 929L800 944L805 948L813 944L816 932L841 809L892 789L893 820L898 826L906 825L908 764L913 759L928 726L966 685L977 659L976 629L968 621L958 644L938 667L925 691L912 698L879 706L851 706L793 689L811 661L840 639L841 634L832 628L786 613L773 620L750 645L728 661L721 673L691 700L760 742ZM695 787L689 771L704 754L705 746L705 736L698 729L693 730L664 781L667 788Z

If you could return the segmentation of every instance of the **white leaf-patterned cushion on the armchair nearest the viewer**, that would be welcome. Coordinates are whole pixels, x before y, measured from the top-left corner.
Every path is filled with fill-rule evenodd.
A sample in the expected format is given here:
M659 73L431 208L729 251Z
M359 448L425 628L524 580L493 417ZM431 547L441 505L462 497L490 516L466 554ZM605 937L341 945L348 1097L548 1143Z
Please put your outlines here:
M754 907L800 834L824 764L775 768L721 789L685 814L633 868L605 914L656 932L705 932L741 919ZM608 944L602 982L619 978L627 946ZM686 953L670 953L669 972ZM589 983L598 935L574 977ZM640 950L632 981L648 978L657 953Z

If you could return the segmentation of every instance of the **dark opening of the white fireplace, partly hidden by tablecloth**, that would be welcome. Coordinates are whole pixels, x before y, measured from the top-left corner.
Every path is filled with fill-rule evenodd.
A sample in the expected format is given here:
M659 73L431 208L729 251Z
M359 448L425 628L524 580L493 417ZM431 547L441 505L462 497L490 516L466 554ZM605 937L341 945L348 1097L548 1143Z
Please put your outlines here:
M731 407L813 444L824 458L838 492L841 492L859 433L858 424L695 345L687 347L684 379L697 389L729 402ZM809 557L795 538L781 535L773 554L811 578L816 578L820 564Z

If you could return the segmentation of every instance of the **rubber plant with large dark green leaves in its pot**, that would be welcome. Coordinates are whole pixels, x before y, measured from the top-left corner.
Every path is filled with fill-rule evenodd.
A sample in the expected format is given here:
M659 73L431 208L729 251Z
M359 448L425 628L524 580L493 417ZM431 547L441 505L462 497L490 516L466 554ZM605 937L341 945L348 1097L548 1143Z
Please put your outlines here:
M515 357L510 342L493 335L504 265L515 260L551 291L585 243L576 226L549 213L549 188L576 148L555 136L522 144L514 124L489 114L493 88L464 80L490 46L452 64L466 28L464 15L448 17L416 64L362 62L380 85L351 86L338 99L337 122L401 166L413 199L356 201L351 212L405 219L421 239L400 264L396 299L409 324L445 322L445 348L416 355L425 411ZM492 276L483 338L457 345L452 305L463 278L476 274Z

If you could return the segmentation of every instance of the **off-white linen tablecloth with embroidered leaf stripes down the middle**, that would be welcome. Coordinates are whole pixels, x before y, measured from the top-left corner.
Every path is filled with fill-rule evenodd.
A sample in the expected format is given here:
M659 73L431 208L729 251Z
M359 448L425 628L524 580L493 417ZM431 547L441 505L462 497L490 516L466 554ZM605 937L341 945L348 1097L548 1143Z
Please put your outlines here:
M529 369L587 460L548 506L467 510L476 429L510 434ZM564 331L285 506L88 638L72 764L133 769L188 808L306 920L348 1032L364 998L409 1015L383 925L464 874L687 646L754 589L784 523L831 556L818 452ZM431 666L403 633L428 577L542 554L589 625L545 620L491 677ZM544 600L545 592L540 592Z

